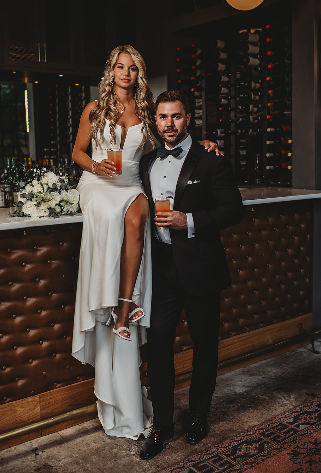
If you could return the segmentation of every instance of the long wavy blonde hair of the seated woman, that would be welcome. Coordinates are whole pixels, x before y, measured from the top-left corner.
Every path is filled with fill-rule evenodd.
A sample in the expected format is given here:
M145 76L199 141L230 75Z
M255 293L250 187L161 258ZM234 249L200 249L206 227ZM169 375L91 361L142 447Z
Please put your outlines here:
M140 149L145 146L147 139L151 142L153 149L156 147L153 140L154 123L152 117L154 116L153 94L150 90L146 79L146 65L140 53L129 44L117 46L110 53L109 59L106 62L104 70L104 78L98 85L99 96L97 98L97 105L91 110L89 114L89 121L91 123L91 137L95 142L97 149L98 143L104 141L104 127L106 124L105 118L108 116L110 128L111 143L116 144L116 121L119 112L116 108L117 95L114 91L114 73L113 69L117 63L118 56L121 53L130 54L136 66L138 67L138 75L133 88L135 113L140 118L142 123L142 135L144 137L140 144ZM143 133L143 128L146 127L147 137ZM99 140L98 140L99 131Z

